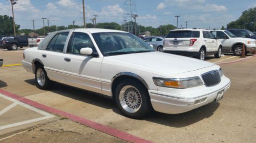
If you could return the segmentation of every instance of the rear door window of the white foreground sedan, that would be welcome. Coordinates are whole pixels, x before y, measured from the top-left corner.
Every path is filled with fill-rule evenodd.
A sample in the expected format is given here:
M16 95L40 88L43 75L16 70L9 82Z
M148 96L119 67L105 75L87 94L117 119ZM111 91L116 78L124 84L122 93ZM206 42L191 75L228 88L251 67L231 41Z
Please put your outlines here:
M48 44L46 50L53 50L62 52L65 46L66 40L68 38L69 33L60 33L57 34L51 42Z

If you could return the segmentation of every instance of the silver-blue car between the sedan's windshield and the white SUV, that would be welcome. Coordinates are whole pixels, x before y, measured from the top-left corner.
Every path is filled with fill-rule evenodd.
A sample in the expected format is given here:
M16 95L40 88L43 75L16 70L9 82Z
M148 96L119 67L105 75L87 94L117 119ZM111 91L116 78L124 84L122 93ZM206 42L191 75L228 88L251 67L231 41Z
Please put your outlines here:
M163 51L163 38L162 37L148 37L143 39L144 42L152 44L157 51Z

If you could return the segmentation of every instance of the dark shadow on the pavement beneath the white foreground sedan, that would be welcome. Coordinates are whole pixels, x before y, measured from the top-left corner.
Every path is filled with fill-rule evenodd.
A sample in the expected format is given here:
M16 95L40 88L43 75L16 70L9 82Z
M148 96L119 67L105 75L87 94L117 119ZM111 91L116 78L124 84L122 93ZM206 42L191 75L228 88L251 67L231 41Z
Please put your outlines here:
M25 80L25 82L36 86L35 79ZM102 108L112 109L115 113L122 115L120 110L115 105L115 101L113 99L57 82L53 82L52 84L54 88L50 89L49 91L53 93ZM169 115L153 111L150 115L141 120L161 124L164 126L181 128L197 123L214 115L214 112L219 107L219 105L219 102L212 102L194 110L176 115Z

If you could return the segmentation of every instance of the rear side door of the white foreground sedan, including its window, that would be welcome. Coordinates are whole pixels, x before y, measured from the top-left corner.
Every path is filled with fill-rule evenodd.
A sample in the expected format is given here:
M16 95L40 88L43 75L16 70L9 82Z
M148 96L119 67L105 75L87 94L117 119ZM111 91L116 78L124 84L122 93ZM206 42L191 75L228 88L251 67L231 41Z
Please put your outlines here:
M69 33L59 33L50 41L47 48L42 51L40 60L48 77L57 82L65 83L63 75L63 49Z

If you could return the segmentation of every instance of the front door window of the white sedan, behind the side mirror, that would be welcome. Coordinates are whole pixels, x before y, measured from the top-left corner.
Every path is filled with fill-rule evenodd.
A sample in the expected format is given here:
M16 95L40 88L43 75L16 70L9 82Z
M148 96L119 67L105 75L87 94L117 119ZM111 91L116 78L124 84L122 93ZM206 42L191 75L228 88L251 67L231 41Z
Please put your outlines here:
M88 34L74 32L69 40L67 53L80 54L81 48L92 48L93 52L96 52Z

